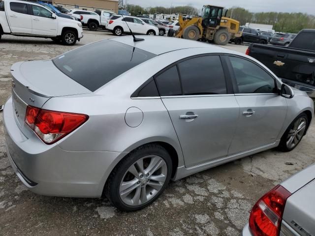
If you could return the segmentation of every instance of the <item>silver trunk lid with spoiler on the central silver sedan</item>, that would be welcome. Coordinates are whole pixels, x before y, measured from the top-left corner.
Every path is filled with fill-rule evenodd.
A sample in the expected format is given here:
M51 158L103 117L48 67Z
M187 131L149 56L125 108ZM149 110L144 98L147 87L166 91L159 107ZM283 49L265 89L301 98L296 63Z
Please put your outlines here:
M24 119L28 105L41 108L52 97L91 93L63 74L51 60L17 62L11 67L11 74L15 121L26 136L29 131Z

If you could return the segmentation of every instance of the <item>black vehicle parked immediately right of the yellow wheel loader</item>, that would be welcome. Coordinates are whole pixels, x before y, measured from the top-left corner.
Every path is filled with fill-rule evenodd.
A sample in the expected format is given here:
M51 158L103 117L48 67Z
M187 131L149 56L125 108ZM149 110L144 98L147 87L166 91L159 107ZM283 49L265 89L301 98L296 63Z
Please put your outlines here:
M234 42L235 44L242 44L243 42L260 44L268 43L268 37L260 34L256 29L240 27L240 31L242 32L242 36L231 39L231 42Z

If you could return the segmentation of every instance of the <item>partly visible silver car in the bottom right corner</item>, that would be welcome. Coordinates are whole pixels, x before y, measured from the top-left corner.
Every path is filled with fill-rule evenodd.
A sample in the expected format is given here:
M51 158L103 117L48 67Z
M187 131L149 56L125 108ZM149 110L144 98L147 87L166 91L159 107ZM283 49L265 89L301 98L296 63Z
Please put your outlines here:
M315 165L266 193L252 208L242 236L315 235Z

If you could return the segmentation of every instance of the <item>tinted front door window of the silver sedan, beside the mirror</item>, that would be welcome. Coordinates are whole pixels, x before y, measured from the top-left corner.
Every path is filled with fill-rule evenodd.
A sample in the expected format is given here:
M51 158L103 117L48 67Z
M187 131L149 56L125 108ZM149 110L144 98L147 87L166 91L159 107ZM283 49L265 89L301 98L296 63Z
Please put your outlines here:
M230 57L239 93L274 93L275 80L253 62Z

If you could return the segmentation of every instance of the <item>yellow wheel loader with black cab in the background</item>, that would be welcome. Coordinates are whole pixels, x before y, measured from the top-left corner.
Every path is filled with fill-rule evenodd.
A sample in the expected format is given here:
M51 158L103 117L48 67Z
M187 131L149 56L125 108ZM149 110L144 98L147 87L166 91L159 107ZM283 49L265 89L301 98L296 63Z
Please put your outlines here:
M224 7L206 5L202 9L202 17L191 19L179 16L180 28L175 32L175 37L191 40L214 41L218 45L226 45L231 39L242 36L239 31L240 23L234 19L227 18ZM173 36L170 30L168 36Z

